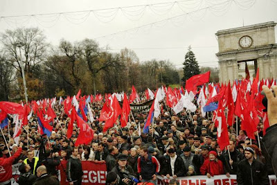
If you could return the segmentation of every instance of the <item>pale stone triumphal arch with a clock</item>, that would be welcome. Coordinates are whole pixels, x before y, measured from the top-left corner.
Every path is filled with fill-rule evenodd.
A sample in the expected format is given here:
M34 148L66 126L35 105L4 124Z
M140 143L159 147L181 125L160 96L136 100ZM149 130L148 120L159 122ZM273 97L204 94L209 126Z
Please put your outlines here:
M219 30L217 36L220 82L256 76L277 78L277 44L273 21Z

